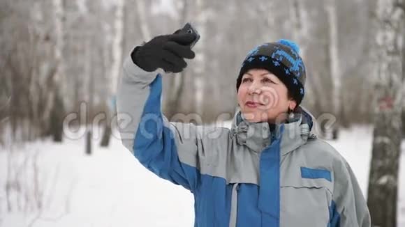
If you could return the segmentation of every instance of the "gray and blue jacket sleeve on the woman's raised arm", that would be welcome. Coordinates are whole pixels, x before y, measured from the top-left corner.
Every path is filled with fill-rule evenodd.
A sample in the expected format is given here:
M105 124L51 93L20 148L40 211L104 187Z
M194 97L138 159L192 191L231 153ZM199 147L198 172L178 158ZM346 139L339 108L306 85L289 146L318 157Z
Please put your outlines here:
M161 73L142 70L131 57L124 61L117 91L121 141L149 171L193 191L204 159L200 130L192 123L170 123L163 116Z

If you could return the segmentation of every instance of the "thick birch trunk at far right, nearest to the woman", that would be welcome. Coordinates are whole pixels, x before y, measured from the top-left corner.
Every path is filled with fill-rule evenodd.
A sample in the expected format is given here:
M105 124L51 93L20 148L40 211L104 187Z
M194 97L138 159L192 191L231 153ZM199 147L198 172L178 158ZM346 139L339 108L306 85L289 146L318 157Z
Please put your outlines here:
M396 0L378 0L376 4L377 72L374 102L374 139L367 203L374 226L397 226L397 189L401 155L401 111L404 89L402 76L402 39L404 12Z

